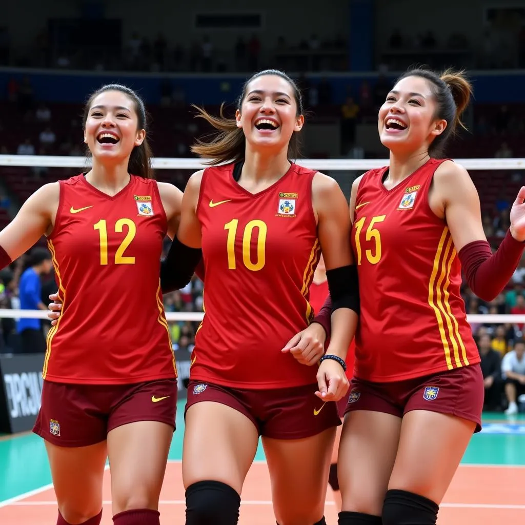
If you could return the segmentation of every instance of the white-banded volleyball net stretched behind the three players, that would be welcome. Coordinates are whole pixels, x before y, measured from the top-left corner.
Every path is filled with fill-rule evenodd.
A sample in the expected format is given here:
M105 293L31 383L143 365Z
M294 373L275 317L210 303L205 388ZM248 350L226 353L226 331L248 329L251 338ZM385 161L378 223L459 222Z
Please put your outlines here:
M497 195L505 194L509 207L516 194L525 185L525 158L512 159L455 159L470 172L472 180L479 188L488 188L492 200ZM310 169L319 170L333 176L340 184L351 183L355 176L366 170L388 164L387 159L300 159L297 163ZM152 165L159 170L159 180L171 180L179 187L184 186L191 173L206 167L206 160L196 158L154 158ZM18 201L11 208L11 216L16 205L21 205L27 196L38 186L47 182L67 178L89 167L89 158L84 156L52 155L0 155L0 189L3 185L9 194L14 194ZM177 178L178 177L178 178ZM183 187L181 188L183 189ZM482 207L484 195L479 192ZM25 198L24 198L25 197ZM491 204L492 205L492 204ZM525 279L525 275L523 276ZM525 282L525 281L524 281ZM513 283L509 283L512 286ZM93 286L96 286L94 283ZM170 322L201 321L201 311L167 311L166 319ZM47 312L42 310L20 310L0 308L0 318L38 318L47 319ZM472 324L510 323L525 324L524 314L511 313L469 313L467 319Z

